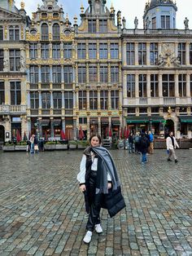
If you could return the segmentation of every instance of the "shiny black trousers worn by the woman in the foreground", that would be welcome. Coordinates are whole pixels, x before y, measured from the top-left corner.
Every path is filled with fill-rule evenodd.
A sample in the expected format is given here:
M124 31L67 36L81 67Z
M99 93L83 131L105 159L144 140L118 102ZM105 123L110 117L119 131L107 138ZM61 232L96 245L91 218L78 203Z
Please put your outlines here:
M90 232L94 231L94 226L100 223L100 210L101 210L101 201L102 194L95 194L96 190L96 179L97 179L97 170L91 170L89 177L89 196L92 201L90 205L89 218L86 225L86 229Z

